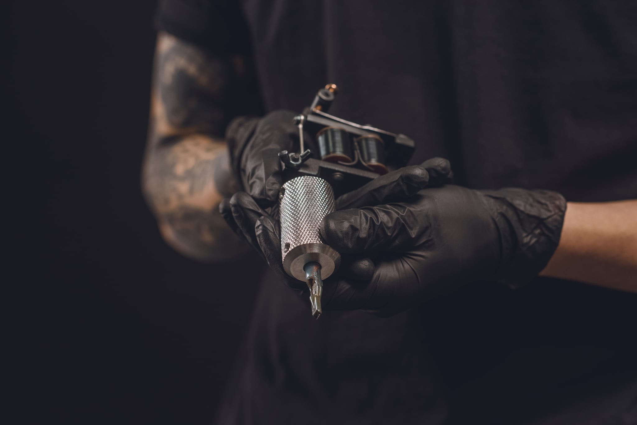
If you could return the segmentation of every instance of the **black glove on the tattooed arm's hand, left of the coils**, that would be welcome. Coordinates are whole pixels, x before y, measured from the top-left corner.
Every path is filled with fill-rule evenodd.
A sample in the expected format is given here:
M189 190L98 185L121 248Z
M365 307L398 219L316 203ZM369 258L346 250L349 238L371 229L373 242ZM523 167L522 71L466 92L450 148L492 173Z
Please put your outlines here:
M282 185L278 153L297 143L299 129L292 122L294 112L280 110L263 118L239 117L225 132L233 171L243 191L258 205L278 202ZM309 136L304 140L311 143ZM311 147L311 146L308 146Z

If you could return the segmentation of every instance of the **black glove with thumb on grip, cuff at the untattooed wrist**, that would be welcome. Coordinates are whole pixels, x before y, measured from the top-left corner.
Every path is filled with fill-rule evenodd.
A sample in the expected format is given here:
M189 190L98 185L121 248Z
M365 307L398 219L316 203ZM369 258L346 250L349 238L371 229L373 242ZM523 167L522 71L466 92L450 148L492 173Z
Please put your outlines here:
M390 315L475 280L532 280L559 242L566 201L550 191L445 185L412 200L336 211L326 242L375 261L369 282L324 285L323 304Z

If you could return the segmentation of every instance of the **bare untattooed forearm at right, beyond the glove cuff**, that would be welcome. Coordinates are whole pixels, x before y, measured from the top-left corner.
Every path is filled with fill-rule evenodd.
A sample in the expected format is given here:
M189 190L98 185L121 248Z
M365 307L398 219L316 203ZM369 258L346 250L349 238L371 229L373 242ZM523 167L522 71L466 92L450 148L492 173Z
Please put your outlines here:
M637 200L569 202L541 275L637 292Z

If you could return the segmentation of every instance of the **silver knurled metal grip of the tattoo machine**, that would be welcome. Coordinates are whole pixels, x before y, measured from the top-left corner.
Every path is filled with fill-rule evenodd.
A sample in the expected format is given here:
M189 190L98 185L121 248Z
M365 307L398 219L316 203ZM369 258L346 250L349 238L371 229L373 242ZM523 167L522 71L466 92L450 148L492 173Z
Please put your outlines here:
M280 196L283 269L305 281L304 266L314 261L325 279L338 269L341 256L320 236L320 222L334 212L334 191L320 177L301 176L282 186Z

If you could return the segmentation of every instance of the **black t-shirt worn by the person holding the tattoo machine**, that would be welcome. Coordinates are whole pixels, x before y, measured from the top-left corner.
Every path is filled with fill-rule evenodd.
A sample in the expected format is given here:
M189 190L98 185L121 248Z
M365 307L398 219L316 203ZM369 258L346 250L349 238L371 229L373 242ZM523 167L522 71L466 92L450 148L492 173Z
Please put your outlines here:
M331 113L408 134L458 184L637 198L632 0L167 0L157 22L252 55L266 111L336 83ZM262 288L224 424L637 424L634 294L537 278L314 321Z

